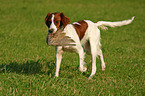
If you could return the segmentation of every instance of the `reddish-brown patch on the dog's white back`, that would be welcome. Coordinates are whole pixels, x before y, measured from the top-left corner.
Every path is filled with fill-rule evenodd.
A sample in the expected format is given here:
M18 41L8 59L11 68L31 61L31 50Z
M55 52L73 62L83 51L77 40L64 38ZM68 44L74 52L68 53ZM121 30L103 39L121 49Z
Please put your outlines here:
M85 32L88 28L88 24L84 20L79 21L77 23L76 24L74 23L73 26L75 27L80 40L82 40L83 37L85 36Z

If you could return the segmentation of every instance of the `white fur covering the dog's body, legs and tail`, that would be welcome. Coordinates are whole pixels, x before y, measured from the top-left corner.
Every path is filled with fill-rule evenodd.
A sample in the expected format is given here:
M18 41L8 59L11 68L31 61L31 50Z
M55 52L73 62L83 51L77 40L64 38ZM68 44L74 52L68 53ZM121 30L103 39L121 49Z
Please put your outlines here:
M124 21L118 21L118 22L105 22L105 21L99 21L97 23L93 23L92 21L85 20L85 22L88 24L88 28L86 30L85 36L80 41L77 32L72 24L68 24L64 28L64 32L67 36L72 38L76 46L57 46L56 47L56 71L55 76L59 76L59 69L62 59L63 51L74 51L79 54L80 59L80 65L79 70L81 72L85 72L87 70L86 67L84 67L84 58L85 58L85 52L87 54L92 55L92 72L89 78L91 78L96 73L96 57L99 55L101 59L101 66L102 70L105 70L105 62L103 59L103 54L101 50L101 43L100 43L100 30L98 27L103 26L101 28L106 29L106 26L110 27L116 27L116 26L123 26L130 24L133 21L134 17L130 20L124 20Z

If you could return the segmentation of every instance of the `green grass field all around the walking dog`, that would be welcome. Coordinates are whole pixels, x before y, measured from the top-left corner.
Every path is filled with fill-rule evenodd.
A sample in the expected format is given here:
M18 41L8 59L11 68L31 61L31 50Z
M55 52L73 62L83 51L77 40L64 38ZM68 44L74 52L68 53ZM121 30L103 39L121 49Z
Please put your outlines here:
M118 21L132 24L101 31L106 70L92 80L78 71L76 53L63 54L54 78L55 48L47 46L48 12L64 12L72 22ZM0 0L0 96L145 96L144 0Z

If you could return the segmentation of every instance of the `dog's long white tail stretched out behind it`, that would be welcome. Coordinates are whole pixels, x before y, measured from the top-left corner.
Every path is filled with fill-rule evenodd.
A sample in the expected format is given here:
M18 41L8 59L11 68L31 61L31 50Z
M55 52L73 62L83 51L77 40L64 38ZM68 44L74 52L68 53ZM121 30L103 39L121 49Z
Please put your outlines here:
M129 20L123 20L123 21L117 21L117 22L98 21L95 24L96 24L97 27L99 27L99 28L101 28L103 30L107 30L108 28L106 26L118 27L118 26L128 25L134 20L134 18L135 18L135 16L133 16Z

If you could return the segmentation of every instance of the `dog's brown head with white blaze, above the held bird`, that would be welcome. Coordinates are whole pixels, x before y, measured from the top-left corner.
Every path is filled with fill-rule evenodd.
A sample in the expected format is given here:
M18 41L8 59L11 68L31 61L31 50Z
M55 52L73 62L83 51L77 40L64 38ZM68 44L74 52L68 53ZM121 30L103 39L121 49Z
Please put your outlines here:
M55 33L61 27L65 27L70 23L70 20L64 13L48 13L45 18L45 24L48 27L49 33Z

